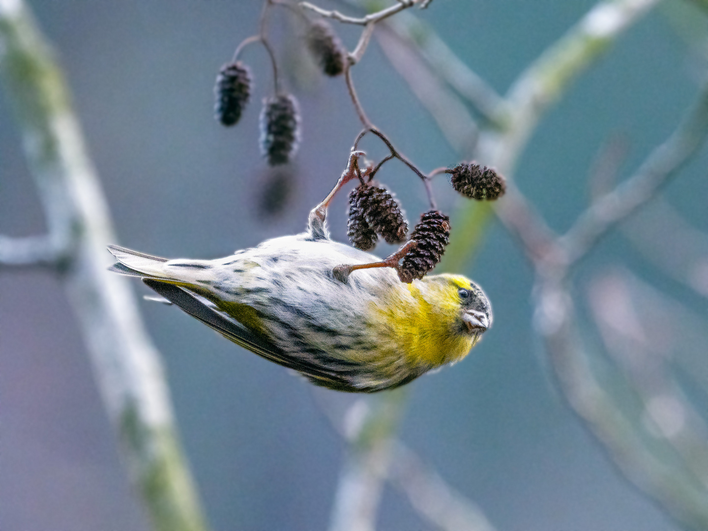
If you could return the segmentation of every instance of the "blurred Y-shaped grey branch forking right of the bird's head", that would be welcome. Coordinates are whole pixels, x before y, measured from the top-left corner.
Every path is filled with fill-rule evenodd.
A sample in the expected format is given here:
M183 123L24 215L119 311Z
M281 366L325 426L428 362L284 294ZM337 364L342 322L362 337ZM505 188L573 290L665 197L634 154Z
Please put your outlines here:
M569 404L603 442L629 479L656 498L683 525L697 530L708 525L708 476L705 474L708 445L704 430L694 433L686 423L685 428L682 426L682 430L672 433L666 429L663 433L661 430L651 433L642 419L648 411L651 414L652 404L656 410L657 399L663 401L662 406L668 402L678 409L681 418L700 417L692 413L692 408L669 384L651 382L649 391L646 379L638 382L635 377L632 382L613 377L612 365L604 366L603 377L593 370L597 360L586 352L585 340L578 331L569 273L570 266L582 258L603 233L651 199L666 178L702 147L707 134L708 87L704 87L693 108L666 142L649 155L634 176L595 199L564 236L552 236L538 215L518 215L531 210L518 190L513 196L514 207L497 211L504 224L519 236L527 254L534 258L535 328L544 340ZM500 203L505 201L502 199ZM537 238L537 234L544 234L544 238ZM603 306L611 307L606 303ZM631 319L630 312L620 311L615 315L615 326L629 333L632 328L622 323ZM628 395L632 399L627 399Z

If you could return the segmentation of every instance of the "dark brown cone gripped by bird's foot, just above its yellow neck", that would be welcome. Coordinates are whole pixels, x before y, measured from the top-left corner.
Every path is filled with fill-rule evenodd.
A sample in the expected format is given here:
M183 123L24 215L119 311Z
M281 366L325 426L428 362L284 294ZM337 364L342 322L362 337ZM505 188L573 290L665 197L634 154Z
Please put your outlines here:
M450 243L450 217L438 210L421 215L421 222L411 233L411 240L418 244L401 260L398 275L401 282L410 284L414 278L423 278L440 262L445 246Z

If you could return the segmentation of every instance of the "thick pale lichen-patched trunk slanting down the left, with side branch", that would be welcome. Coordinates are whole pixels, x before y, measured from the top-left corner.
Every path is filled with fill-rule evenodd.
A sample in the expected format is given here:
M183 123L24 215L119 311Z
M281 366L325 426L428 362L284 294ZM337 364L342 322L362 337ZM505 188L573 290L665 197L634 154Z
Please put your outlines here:
M0 263L45 265L60 275L154 529L205 530L159 353L127 282L106 270L105 245L117 238L67 85L21 0L0 0L0 75L48 227L46 236L3 236Z

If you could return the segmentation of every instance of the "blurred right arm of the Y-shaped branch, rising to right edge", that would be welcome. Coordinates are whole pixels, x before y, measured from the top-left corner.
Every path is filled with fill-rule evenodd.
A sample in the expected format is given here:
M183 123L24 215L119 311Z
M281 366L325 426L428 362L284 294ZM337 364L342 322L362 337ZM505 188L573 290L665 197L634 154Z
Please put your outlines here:
M561 237L571 263L578 261L614 224L648 201L695 154L708 135L708 87L673 134L654 149L634 176L599 198Z

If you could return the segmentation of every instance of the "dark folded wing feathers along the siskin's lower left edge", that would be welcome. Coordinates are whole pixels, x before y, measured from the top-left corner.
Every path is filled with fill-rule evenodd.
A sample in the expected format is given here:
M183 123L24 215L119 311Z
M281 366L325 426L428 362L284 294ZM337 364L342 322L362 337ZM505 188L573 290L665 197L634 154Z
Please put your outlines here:
M327 370L325 367L315 365L308 360L298 359L283 353L273 343L257 336L239 321L225 316L216 307L207 304L202 297L188 288L152 278L144 278L143 282L152 290L158 292L159 295L168 299L169 302L183 309L184 312L199 319L202 323L215 329L237 345L251 350L251 352L260 355L266 360L302 372L303 375L316 383L328 382L328 387L331 387L331 384L339 384L341 389L350 388L348 380L336 371Z

